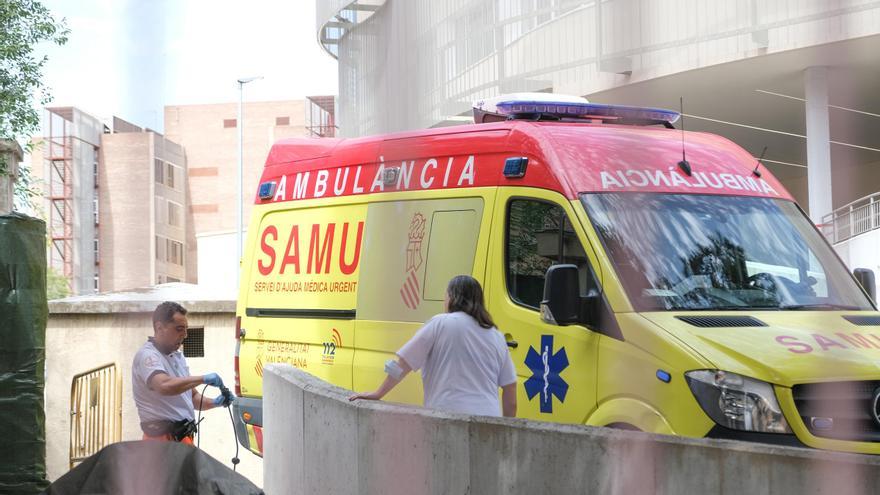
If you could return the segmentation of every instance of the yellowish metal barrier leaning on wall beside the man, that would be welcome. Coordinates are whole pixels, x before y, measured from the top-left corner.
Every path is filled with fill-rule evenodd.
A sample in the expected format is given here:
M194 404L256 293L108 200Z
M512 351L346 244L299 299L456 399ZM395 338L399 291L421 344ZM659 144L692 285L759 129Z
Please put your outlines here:
M122 377L116 363L80 373L70 386L70 468L122 440Z

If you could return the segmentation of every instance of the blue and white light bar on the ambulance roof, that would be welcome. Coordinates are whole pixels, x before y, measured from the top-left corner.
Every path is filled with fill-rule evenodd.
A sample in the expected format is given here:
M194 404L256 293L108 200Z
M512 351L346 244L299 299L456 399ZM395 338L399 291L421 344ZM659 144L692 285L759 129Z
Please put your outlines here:
M672 127L680 117L678 112L662 108L631 107L590 103L579 96L550 93L515 93L478 100L474 103L474 122L501 120L557 120L581 122L610 122L619 124Z

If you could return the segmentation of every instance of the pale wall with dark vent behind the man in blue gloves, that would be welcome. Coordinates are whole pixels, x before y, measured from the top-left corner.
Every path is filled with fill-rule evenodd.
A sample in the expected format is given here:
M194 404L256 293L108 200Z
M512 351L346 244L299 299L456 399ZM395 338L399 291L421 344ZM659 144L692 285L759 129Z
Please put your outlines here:
M155 304L150 306L155 307ZM205 328L205 357L187 359L194 375L213 371L219 373L226 383L233 383L233 311L234 306L229 304L226 312L191 311L187 315L191 328ZM150 335L149 312L50 314L46 330L46 462L50 480L57 479L68 469L70 387L73 376L78 373L106 363L118 364L122 374L122 440L141 438L131 395L131 361ZM209 388L205 395L214 397L217 391ZM208 411L203 418L201 448L229 466L235 453L235 439L228 413L225 410ZM257 485L262 484L262 459L244 450L239 457L238 472Z

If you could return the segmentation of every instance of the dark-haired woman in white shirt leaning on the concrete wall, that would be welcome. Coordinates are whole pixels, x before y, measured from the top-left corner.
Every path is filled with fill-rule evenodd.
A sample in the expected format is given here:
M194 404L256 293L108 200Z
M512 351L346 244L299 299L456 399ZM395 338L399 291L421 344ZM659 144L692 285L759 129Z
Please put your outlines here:
M516 369L473 277L459 275L446 288L446 313L428 320L385 363L388 376L374 392L350 400L379 400L412 370L422 370L425 407L464 414L516 416ZM501 403L498 388L501 388Z

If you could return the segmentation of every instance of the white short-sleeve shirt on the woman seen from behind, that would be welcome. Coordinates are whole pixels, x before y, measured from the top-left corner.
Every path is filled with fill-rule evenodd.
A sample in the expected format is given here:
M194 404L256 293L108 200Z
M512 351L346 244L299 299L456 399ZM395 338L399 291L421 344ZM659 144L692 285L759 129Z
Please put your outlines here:
M422 370L425 407L500 416L498 388L516 382L507 342L467 313L437 315L397 351Z

